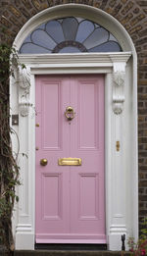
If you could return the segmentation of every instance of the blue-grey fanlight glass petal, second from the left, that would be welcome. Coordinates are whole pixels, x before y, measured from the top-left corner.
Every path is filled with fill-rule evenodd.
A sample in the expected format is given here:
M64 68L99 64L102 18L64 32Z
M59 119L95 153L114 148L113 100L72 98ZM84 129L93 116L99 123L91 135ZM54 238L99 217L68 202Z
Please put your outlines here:
M53 49L56 46L55 41L43 30L37 29L31 34L32 42L47 49Z

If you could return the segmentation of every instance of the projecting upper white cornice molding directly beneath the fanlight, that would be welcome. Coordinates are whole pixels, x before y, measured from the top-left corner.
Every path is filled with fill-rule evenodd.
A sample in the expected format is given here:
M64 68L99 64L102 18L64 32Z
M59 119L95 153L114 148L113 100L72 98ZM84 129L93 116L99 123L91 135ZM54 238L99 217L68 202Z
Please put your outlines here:
M107 53L78 53L78 54L20 54L22 63L41 67L112 67L114 63L126 63L132 53L129 52L107 52ZM67 66L66 66L67 65Z

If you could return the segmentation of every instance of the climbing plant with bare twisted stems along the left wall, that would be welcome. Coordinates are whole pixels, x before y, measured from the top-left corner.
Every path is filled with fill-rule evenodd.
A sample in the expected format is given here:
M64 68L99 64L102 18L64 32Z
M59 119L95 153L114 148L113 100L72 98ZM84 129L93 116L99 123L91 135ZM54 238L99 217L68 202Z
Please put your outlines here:
M14 48L0 45L0 243L13 250L12 215L19 181L17 155L11 144L9 78L14 76L13 65L19 65Z

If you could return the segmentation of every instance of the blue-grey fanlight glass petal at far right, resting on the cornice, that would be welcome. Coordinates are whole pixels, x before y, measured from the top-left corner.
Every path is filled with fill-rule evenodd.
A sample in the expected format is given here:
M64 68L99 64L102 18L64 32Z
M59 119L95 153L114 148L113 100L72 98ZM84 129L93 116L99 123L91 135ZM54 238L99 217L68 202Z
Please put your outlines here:
M89 49L89 52L120 52L121 47L117 42L109 41Z

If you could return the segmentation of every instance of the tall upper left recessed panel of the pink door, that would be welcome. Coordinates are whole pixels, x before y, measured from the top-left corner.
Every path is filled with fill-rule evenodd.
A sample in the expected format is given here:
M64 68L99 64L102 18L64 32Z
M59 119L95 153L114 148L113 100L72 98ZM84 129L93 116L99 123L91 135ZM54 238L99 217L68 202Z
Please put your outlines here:
M62 127L60 122L62 100L61 82L46 82L42 85L41 91L42 148L59 150L62 146Z

